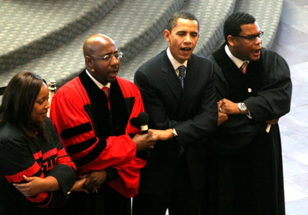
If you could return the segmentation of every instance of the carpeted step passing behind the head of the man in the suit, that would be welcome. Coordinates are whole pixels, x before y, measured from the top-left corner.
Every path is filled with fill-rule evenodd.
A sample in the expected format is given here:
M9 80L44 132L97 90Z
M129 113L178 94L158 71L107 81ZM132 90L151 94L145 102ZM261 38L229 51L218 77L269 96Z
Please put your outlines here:
M223 34L225 18L233 12L235 0L191 0L181 8L195 14L200 24L200 38L194 53L207 56L209 50L218 42ZM133 80L133 74L138 67L168 46L161 31L156 40L139 52L129 62L121 64L119 76Z

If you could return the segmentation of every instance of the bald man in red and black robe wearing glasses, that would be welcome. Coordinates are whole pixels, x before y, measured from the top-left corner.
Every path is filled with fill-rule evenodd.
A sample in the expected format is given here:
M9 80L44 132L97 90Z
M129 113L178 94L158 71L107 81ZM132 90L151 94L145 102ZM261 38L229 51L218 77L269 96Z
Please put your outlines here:
M156 137L139 135L130 119L144 112L139 89L117 77L122 53L106 35L94 34L83 46L86 69L53 96L50 118L63 145L94 192L72 192L68 214L129 214L137 195L137 151L151 149ZM107 90L105 90L107 88Z

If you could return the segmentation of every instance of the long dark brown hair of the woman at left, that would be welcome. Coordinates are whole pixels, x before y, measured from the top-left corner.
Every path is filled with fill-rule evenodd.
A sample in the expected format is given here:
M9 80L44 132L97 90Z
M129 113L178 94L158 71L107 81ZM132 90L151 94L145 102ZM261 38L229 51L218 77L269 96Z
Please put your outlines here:
M31 72L17 73L4 91L0 106L0 122L14 124L21 128L26 136L34 137L30 116L43 83L46 84L43 78ZM46 138L45 123L40 123L38 127L40 133Z

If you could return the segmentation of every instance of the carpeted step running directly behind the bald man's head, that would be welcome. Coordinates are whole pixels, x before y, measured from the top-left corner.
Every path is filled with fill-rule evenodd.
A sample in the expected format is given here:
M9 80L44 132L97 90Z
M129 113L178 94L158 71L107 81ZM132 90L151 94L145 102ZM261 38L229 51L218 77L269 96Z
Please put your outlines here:
M58 86L62 85L84 68L83 42L94 33L112 37L119 50L125 53L123 61L130 60L157 37L165 28L168 17L179 10L183 3L183 0L120 2L103 19L97 20L95 25L71 39L65 46L13 70L2 71L0 86L6 85L14 74L22 70L35 72L47 81L54 79Z

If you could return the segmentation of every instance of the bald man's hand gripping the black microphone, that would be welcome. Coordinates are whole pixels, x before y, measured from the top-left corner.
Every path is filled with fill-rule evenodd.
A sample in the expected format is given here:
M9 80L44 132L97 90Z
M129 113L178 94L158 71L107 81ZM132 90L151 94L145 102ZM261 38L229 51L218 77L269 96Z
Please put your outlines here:
M137 151L140 151L144 149L153 149L158 139L157 134L149 130L146 134L135 135L132 140L136 143Z

